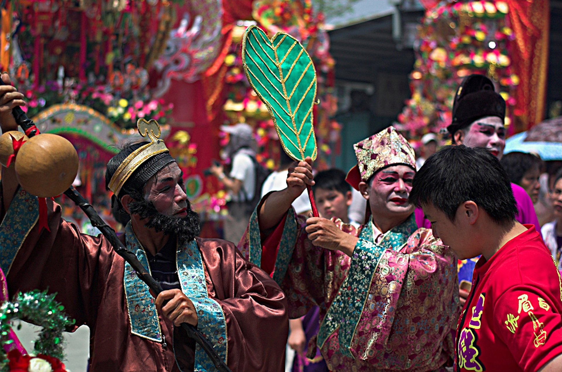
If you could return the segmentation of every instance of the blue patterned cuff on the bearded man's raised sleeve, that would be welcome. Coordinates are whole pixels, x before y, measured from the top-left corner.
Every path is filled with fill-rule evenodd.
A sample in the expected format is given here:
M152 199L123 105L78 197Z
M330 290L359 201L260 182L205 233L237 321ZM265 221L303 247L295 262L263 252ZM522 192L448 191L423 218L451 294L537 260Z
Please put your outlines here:
M6 276L10 273L13 259L38 219L37 197L22 188L18 189L0 225L0 267Z

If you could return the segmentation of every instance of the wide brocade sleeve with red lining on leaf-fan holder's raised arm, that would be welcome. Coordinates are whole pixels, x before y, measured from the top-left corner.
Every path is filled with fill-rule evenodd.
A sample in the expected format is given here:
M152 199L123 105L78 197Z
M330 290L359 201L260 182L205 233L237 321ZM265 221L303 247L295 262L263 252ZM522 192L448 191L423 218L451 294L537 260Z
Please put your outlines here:
M313 306L324 314L345 279L349 257L314 246L305 231L306 217L293 208L269 234L260 233L259 207L238 247L252 263L267 269L287 294L289 318L301 317ZM334 219L334 223L347 233L359 232L341 220Z

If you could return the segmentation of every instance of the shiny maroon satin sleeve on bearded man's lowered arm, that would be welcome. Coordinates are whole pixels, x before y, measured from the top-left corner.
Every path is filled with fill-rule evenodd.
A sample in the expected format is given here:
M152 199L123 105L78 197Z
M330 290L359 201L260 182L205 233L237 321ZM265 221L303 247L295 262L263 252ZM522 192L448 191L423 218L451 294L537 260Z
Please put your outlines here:
M224 312L228 366L233 371L283 371L288 335L285 294L234 244L197 239L207 288Z

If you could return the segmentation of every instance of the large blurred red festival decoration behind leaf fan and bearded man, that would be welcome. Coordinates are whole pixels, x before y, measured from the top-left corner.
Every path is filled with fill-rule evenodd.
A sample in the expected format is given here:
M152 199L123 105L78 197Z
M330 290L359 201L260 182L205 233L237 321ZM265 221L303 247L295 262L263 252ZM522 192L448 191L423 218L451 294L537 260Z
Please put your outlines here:
M318 71L320 103L314 108L314 125L324 155L319 157L324 161L317 164L319 169L327 166L325 159L337 148L339 124L332 119L334 61L322 29L323 15L312 9L310 0L23 0L13 4L3 13L8 16L2 17L2 31L12 38L5 43L2 38L2 51L9 53L1 54L0 62L25 94L28 116L42 115L51 107L81 105L99 112L103 123L107 119L100 124L103 128L115 125L127 134L140 117L171 124L166 143L187 175L189 196L203 219L207 213L225 212L220 184L203 176L203 170L219 158L221 145L209 137L221 135L220 125L247 121L259 143L258 160L273 169L279 156L277 134L265 106L242 73L243 21L257 22L268 33L285 30L298 35ZM74 123L70 113L65 115L68 133L64 135L79 147L82 166L76 182L82 186L77 187L84 187L90 200L98 198L101 203L103 197L96 192L103 189L98 173L111 153L101 151L102 161L92 158L95 151L84 149L105 148L113 140L84 131L88 120ZM72 125L76 130L71 133ZM200 143L206 146L197 146ZM66 209L64 197L61 204Z

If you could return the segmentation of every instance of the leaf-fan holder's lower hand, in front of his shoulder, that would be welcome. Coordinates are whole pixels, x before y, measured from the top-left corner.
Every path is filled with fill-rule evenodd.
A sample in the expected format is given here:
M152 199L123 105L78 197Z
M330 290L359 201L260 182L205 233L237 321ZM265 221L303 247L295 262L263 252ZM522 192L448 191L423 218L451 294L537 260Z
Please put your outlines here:
M359 238L343 232L332 220L323 217L310 217L306 220L306 225L305 230L312 244L352 256Z

